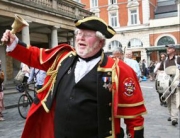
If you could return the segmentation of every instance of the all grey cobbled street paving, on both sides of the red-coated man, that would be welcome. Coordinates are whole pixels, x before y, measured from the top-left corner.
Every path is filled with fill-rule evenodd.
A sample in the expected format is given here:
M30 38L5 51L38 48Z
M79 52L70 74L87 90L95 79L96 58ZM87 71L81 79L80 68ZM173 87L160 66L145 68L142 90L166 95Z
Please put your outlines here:
M180 127L174 127L167 121L167 108L159 105L154 82L141 82L141 88L148 110L145 115L145 138L180 138ZM8 92L10 90L5 91ZM20 138L25 120L19 116L17 107L13 106L19 96L19 93L5 95L5 105L9 109L4 111L6 120L0 122L0 138Z

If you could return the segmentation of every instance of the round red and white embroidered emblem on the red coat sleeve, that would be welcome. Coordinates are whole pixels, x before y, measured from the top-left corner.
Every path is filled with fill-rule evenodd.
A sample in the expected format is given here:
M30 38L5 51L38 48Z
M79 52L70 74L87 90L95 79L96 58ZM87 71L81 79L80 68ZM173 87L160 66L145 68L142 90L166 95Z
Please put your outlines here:
M127 96L132 96L135 90L135 82L132 78L126 78L123 82L125 92L124 94Z

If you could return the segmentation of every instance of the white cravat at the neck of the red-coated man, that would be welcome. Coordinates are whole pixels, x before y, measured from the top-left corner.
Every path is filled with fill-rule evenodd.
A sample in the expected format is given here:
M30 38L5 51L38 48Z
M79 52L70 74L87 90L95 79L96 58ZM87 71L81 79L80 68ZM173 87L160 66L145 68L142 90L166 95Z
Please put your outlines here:
M100 58L101 57L98 57L88 62L79 58L74 71L75 82L77 83L81 80L100 61Z

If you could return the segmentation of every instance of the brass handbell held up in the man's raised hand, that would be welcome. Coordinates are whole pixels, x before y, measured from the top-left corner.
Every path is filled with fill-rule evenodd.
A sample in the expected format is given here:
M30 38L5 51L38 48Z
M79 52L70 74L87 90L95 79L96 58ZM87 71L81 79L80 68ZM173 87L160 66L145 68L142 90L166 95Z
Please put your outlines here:
M29 24L19 15L15 14L15 20L11 25L11 33L16 34L20 32L25 26L29 26ZM7 42L2 42L2 45L6 45Z

